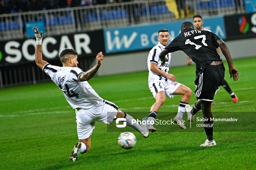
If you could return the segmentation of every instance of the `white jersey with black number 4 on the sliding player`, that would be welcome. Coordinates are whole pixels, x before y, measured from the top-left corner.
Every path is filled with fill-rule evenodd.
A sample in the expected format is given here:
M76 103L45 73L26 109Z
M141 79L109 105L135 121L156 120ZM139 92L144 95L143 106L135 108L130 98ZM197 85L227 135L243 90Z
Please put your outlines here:
M89 109L103 101L87 81L81 82L79 76L83 73L78 67L60 67L46 64L43 70L62 90L66 100L73 109Z

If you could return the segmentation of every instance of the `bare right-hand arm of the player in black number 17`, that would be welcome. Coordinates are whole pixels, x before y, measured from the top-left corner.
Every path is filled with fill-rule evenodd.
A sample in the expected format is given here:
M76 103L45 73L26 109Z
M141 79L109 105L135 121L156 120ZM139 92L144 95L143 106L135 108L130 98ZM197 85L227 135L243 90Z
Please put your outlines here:
M239 78L239 73L238 73L238 70L236 70L236 68L234 67L228 46L222 39L219 39L217 41L217 45L220 47L223 55L225 56L225 58L228 62L230 78L233 77L233 80L237 81Z

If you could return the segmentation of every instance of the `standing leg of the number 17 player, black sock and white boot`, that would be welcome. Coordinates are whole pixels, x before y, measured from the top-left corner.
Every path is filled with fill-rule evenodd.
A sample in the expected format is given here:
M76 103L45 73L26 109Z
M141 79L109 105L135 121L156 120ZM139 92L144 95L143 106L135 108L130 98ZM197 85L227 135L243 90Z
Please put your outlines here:
M200 145L200 147L211 147L216 145L216 142L213 139L213 116L211 110L211 101L201 100L202 112L204 118L204 130L207 136L206 141Z

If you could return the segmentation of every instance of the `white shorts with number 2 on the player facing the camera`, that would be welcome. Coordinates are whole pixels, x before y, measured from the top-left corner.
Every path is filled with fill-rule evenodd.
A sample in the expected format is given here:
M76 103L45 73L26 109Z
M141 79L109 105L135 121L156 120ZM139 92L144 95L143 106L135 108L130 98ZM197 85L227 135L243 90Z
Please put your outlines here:
M180 86L181 84L178 82L172 82L171 80L167 81L155 81L152 84L148 84L150 91L152 92L154 98L156 97L156 94L158 92L164 91L165 96L168 96L169 98L173 98L175 95L172 95L175 90Z

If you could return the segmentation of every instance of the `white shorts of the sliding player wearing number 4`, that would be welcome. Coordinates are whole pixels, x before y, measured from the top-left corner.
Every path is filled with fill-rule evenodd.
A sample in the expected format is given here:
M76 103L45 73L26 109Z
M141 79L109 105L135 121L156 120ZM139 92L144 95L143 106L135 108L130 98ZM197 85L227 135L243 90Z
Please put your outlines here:
M96 121L109 124L118 112L118 107L104 100L90 109L76 109L78 139L87 139L92 135Z

